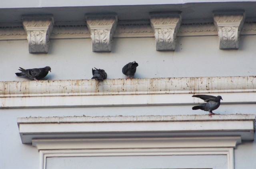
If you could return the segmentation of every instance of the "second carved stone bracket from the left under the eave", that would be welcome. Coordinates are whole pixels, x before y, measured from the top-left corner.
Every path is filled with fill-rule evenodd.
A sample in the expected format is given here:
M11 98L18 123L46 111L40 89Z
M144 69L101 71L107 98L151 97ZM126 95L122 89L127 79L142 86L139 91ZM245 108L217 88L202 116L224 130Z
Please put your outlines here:
M116 30L116 14L86 14L86 23L91 32L92 51L110 52Z

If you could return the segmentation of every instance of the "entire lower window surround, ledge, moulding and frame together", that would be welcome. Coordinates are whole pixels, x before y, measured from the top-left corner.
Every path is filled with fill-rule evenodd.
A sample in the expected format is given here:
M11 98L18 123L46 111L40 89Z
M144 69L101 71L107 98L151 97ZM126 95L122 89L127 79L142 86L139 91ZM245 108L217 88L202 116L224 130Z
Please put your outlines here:
M22 143L48 157L226 155L254 139L255 115L174 115L18 118Z

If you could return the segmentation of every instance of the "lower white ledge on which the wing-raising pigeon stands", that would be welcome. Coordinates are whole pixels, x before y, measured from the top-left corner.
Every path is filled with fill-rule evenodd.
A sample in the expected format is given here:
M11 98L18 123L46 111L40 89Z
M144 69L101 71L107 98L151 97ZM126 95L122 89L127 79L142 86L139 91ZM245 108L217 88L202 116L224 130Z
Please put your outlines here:
M255 115L18 118L22 143L35 139L240 137L253 140ZM35 140L36 141L36 140ZM240 143L240 141L238 141ZM235 144L234 144L235 146Z

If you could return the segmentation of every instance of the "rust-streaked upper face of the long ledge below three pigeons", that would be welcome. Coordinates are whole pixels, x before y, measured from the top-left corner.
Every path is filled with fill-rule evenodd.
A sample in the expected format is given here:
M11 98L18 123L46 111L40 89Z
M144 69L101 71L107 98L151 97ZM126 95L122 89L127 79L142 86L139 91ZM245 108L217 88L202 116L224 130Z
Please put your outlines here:
M145 78L96 80L42 80L0 82L0 97L31 94L119 94L119 93L196 93L214 90L256 91L255 76Z

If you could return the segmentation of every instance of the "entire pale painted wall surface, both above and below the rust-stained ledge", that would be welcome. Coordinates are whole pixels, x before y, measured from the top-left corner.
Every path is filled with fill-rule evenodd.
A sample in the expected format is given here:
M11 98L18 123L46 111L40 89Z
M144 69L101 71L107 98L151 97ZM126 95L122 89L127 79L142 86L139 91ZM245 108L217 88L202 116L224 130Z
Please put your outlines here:
M125 78L122 67L134 60L139 64L135 78L255 76L255 42L256 36L242 36L238 50L219 50L217 36L183 37L178 38L175 52L157 52L154 38L114 39L112 52L95 53L90 39L51 40L48 54L29 54L26 40L0 41L0 80L26 80L14 74L18 67L44 66L52 68L48 80L90 79L92 67L106 70L108 78ZM0 109L0 168L38 167L37 149L21 143L18 117L207 114L201 110L193 111L191 107ZM225 104L216 112L256 114L256 104ZM256 168L256 141L238 145L234 153L236 169Z

